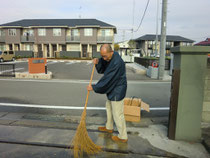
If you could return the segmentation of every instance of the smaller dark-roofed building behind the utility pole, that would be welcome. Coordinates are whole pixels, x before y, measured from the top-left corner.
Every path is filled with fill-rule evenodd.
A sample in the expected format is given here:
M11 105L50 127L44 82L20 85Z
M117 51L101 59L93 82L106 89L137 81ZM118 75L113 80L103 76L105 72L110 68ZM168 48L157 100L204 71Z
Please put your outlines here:
M134 41L136 42L136 48L141 50L141 54L144 56L150 56L155 54L155 45L157 46L157 55L159 55L160 51L160 35L158 35L158 42L156 42L156 35L146 34L141 36ZM166 56L170 55L171 47L175 46L191 46L193 45L193 40L182 37L182 36L174 36L167 35L166 36Z

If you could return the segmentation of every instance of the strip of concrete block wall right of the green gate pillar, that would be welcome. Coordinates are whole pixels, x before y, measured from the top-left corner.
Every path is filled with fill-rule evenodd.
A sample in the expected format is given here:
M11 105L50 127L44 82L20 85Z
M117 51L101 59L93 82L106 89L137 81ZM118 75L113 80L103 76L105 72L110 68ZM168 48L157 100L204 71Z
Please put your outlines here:
M210 67L205 77L202 121L210 123Z

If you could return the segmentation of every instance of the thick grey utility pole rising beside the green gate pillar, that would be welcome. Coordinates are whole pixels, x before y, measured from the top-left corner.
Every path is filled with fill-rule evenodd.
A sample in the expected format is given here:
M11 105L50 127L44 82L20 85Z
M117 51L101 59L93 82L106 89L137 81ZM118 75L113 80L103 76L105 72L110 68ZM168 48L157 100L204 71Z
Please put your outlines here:
M160 58L159 58L159 69L158 69L158 79L159 80L163 79L164 72L165 72L166 18L167 18L167 0L162 0Z

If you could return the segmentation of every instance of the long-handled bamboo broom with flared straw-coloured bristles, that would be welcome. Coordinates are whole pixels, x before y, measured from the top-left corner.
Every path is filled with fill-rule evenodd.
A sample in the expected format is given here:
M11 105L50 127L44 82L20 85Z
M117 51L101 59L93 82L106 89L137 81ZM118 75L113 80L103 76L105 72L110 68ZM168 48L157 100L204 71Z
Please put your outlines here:
M95 65L92 69L92 74L90 77L90 83L92 83L93 74L94 74ZM101 146L96 145L91 138L88 136L88 132L86 129L86 111L87 111L87 103L90 91L87 92L85 107L81 115L80 124L77 127L76 134L72 140L71 146L74 151L74 158L83 157L83 153L86 152L87 155L97 154L101 151Z

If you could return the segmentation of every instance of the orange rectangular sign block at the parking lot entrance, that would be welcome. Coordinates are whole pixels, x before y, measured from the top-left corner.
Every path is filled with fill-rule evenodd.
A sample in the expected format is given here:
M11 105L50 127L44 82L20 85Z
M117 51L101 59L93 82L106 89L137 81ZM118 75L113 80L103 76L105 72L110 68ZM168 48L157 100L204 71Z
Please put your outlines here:
M45 73L46 58L29 58L28 72L30 74Z

